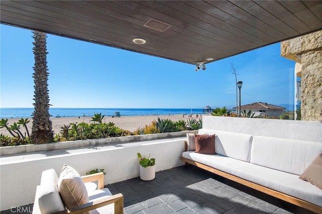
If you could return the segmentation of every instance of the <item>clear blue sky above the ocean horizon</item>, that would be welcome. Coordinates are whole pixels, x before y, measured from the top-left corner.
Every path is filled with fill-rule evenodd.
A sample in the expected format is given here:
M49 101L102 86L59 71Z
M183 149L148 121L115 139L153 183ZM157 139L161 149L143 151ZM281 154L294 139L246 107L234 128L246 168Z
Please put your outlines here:
M0 25L2 108L33 107L30 30ZM48 89L53 108L203 108L294 103L295 62L280 43L195 65L48 34Z

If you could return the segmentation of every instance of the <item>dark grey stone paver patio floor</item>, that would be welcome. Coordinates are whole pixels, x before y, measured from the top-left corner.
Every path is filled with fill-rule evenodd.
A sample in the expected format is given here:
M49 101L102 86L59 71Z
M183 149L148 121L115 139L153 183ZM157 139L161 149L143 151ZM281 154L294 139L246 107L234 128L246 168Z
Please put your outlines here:
M192 165L157 172L152 181L133 178L105 187L124 195L126 214L312 213Z

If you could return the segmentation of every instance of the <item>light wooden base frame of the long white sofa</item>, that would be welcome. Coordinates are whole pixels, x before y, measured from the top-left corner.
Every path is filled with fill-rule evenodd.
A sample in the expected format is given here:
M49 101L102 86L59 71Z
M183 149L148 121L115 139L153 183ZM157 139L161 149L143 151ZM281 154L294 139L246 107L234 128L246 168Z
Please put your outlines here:
M187 150L188 150L187 141L185 141L185 151L187 151ZM222 176L222 177L227 178L229 180L232 180L232 181L235 181L237 183L243 184L245 186L248 186L250 188L256 189L258 191L264 192L264 193L266 193L268 195L271 195L271 196L274 196L276 198L282 199L282 200L287 201L289 203L295 204L297 206L303 207L305 209L311 210L311 211L316 212L316 213L322 213L322 206L318 206L316 204L307 202L305 200L302 200L302 199L299 199L299 198L284 194L282 192L267 188L265 186L253 183L253 182L245 180L243 178L239 178L237 176L234 176L234 175L231 175L229 173L217 170L215 168L209 167L207 165L201 164L201 163L196 162L196 161L192 161L192 160L184 158L184 157L181 157L180 159L183 160L186 163L186 165L187 164L192 164L192 165L194 165L196 167L199 167L201 169L207 170L208 172L217 174L219 176Z

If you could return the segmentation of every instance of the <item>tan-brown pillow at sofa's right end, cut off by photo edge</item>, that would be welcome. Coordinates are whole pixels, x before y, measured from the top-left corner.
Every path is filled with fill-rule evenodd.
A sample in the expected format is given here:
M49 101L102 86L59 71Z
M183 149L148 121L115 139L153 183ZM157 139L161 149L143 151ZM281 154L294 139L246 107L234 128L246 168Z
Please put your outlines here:
M299 178L322 189L322 153L316 156Z

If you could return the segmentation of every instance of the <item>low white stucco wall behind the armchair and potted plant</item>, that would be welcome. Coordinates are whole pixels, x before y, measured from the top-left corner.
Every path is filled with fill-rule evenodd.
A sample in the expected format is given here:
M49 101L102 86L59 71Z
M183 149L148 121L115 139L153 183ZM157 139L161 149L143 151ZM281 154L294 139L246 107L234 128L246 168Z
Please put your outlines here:
M1 210L33 203L42 171L53 168L59 175L64 164L81 175L93 169L104 169L105 185L139 176L137 152L143 157L151 154L156 159L156 171L182 166L180 155L184 152L184 141L183 137L141 141L104 150L89 148L82 153L0 163Z

